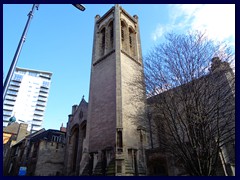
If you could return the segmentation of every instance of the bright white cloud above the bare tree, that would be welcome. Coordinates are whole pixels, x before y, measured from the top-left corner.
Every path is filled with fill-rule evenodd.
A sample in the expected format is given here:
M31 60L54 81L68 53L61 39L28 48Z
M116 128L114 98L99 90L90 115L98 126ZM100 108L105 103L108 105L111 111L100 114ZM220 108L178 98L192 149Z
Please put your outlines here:
M209 38L229 40L235 45L234 4L181 4L169 5L169 23L159 24L152 34L157 41L165 32L200 30Z

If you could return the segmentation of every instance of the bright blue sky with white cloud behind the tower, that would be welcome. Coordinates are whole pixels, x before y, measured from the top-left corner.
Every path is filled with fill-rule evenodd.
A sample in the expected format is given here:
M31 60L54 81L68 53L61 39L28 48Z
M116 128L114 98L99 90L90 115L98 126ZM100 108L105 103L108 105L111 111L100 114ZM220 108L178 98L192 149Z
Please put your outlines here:
M235 49L235 5L120 4L138 15L143 57L168 32L205 31L209 38ZM33 16L18 67L53 73L43 127L66 126L71 107L88 101L94 17L114 4L41 4ZM27 21L31 4L3 5L4 80Z

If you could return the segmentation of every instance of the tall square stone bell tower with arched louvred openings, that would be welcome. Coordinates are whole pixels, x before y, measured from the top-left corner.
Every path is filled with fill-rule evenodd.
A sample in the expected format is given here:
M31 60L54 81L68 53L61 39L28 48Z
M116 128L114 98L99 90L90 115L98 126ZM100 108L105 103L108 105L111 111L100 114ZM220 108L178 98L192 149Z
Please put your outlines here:
M140 80L140 83L138 82ZM146 174L143 64L138 17L115 5L95 17L86 140L80 174Z

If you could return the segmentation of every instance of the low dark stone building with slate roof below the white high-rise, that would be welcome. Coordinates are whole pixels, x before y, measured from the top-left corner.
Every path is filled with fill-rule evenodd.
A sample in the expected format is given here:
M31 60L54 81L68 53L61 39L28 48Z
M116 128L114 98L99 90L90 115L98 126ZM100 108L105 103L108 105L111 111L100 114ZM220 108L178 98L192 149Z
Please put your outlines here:
M41 129L12 146L4 175L17 176L21 167L26 176L62 175L64 152L65 132Z

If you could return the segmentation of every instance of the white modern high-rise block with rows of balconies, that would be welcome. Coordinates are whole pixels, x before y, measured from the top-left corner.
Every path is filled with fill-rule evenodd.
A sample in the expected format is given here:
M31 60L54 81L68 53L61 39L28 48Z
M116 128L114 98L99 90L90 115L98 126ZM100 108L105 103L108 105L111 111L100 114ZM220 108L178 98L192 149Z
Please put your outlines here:
M15 117L31 132L42 128L51 77L50 72L16 68L3 102L3 127Z

